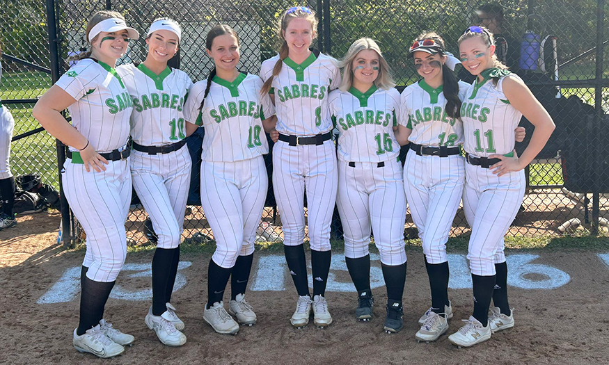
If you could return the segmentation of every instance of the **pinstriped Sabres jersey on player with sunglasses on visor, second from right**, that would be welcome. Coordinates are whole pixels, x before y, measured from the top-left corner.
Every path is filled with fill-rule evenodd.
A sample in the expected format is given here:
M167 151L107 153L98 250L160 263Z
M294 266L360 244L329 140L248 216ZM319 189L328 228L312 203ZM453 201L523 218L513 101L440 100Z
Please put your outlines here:
M468 83L459 81L459 98L465 94ZM402 119L400 124L412 129L408 140L424 146L457 146L463 143L461 120L448 116L443 86L437 89L420 80L402 91Z

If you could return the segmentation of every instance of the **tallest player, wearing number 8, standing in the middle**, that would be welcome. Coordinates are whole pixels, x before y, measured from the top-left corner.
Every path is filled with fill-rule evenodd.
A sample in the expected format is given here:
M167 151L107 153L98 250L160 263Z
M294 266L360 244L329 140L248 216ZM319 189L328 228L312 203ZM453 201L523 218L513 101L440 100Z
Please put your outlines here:
M317 19L310 8L296 6L280 18L279 54L262 63L263 94L271 94L277 112L279 141L273 150L273 186L283 224L285 259L299 299L290 322L308 324L313 305L315 324L332 323L324 298L330 271L330 224L338 184L328 94L340 85L333 58L310 51ZM310 299L303 249L307 194L308 236L313 271Z

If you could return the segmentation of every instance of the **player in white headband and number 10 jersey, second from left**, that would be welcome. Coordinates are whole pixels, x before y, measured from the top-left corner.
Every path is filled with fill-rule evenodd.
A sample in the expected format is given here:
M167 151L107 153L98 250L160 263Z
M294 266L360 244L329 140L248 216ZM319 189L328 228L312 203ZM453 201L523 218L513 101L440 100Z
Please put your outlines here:
M191 174L186 147L184 99L190 77L167 66L180 44L180 25L161 18L148 29L148 56L139 65L117 67L132 98L133 186L155 227L158 241L152 258L152 307L145 323L168 346L182 346L184 322L170 304L180 261L180 238Z

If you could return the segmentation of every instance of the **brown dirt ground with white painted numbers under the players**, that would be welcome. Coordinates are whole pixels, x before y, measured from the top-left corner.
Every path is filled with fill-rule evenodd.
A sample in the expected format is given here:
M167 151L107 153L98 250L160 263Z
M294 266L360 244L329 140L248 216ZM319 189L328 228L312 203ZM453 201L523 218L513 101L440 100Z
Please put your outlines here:
M604 316L609 307L609 267L599 256L606 252L507 252L514 263L523 257L535 258L514 265L508 261L511 272L520 273L509 281L516 327L493 334L474 348L457 349L447 336L429 344L414 339L416 321L429 307L429 283L422 253L409 249L404 330L393 335L382 331L383 286L373 289L376 303L369 323L354 319L354 289L329 291L326 298L334 323L326 330L313 325L294 330L288 321L296 298L291 280L288 275L269 276L276 273L272 266L262 269L262 261L271 262L278 255L258 253L247 294L258 314L258 324L242 327L237 336L215 334L202 319L209 254L182 254L179 273L184 286L172 299L186 323L188 342L182 348L161 345L145 327L143 318L150 300L134 299L145 297L150 277L132 274L143 272L138 264L149 267L152 251L129 254L127 264L132 271L123 271L115 287L123 299L110 298L105 317L136 336L136 342L119 357L97 359L72 348L78 292L70 292L74 289L70 285L58 284L61 280L63 284L70 282L67 273L79 267L84 252L65 252L56 245L56 213L18 220L17 227L0 232L0 364L607 364L609 357L609 319ZM464 252L456 252L454 257L459 259L459 254ZM373 261L372 266L374 271L378 262ZM467 284L461 269L451 262L451 288ZM345 270L332 272L333 287L349 285L340 284L349 282ZM552 281L552 277L556 279ZM264 285L280 289L278 282L285 291L254 290ZM524 289L527 285L543 287L546 282L547 289ZM460 326L459 319L470 314L471 289L450 289L449 295L455 314L450 321L452 333Z

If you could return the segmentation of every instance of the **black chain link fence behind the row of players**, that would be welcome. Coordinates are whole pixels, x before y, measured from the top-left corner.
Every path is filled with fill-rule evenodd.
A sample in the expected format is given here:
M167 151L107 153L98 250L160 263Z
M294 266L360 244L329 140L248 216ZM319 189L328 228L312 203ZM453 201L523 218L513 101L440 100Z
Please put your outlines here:
M285 8L295 5L283 0L187 3L49 0L47 4L51 6L58 29L57 58L61 72L66 70L65 58L86 48L86 19L97 10L111 9L125 15L127 24L141 34L145 34L156 17L169 16L180 22L183 40L179 58L174 61L195 82L205 79L213 67L213 61L205 53L205 36L212 26L229 24L237 31L242 47L239 68L258 73L262 60L276 54L274 27L278 17ZM418 33L438 32L445 39L448 51L458 55L457 39L467 26L484 24L494 29L493 33L499 34L500 57L525 80L557 126L546 147L525 170L527 194L508 234L562 234L558 228L574 219L582 223L584 229L592 230L598 227L592 223L599 222L603 232L605 218L609 218L609 195L606 194L609 193L606 157L609 156L606 150L609 145L609 63L603 63L602 47L609 36L606 1L504 0L482 6L483 2L469 0L319 0L298 5L307 5L317 12L320 22L314 45L335 58L342 58L357 38L376 39L393 68L399 90L418 80L413 63L406 59ZM484 11L477 12L481 6ZM8 21L1 25L5 56L0 98L5 104L10 103L16 122L15 135L39 127L31 117L33 102L19 99L35 99L51 84L48 72L32 66L52 68L52 61L47 57L46 11L40 1L18 0L8 5L5 17ZM145 59L145 54L142 37L131 43L119 63L139 62ZM457 72L461 79L472 81L467 72ZM527 138L517 145L519 153L525 149L533 131L527 120L523 119L521 125L527 129ZM200 148L202 138L201 133L196 133L189 140L195 166L200 166L200 150L197 158L196 149ZM56 184L54 140L46 132L15 141L11 159L16 175L38 172ZM270 163L269 155L267 165ZM211 241L213 234L199 204L199 171L193 168L184 238ZM133 243L147 241L143 234L145 218L145 210L135 199L127 221L128 236ZM571 225L574 227L576 225ZM416 236L409 214L405 228L407 237ZM464 213L459 209L452 234L468 231ZM269 190L258 240L280 241L281 236L280 215ZM342 237L338 214L334 217L333 237Z

